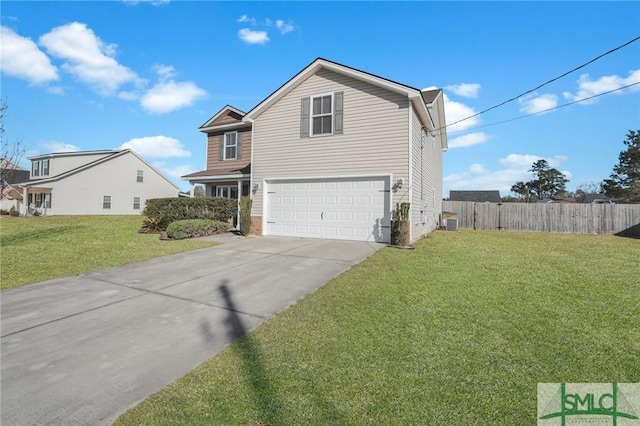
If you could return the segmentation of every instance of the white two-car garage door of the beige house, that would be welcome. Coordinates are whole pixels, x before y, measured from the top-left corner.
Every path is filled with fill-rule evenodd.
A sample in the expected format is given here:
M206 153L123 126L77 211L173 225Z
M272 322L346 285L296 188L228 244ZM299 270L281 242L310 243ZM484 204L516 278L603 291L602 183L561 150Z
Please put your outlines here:
M388 177L267 182L267 235L389 242Z

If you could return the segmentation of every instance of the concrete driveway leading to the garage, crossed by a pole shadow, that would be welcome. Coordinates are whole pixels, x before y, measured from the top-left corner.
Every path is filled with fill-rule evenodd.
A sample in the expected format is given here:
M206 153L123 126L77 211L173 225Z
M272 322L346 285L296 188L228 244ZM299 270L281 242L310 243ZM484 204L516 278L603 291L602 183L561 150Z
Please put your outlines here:
M382 245L223 245L2 292L2 425L104 425Z

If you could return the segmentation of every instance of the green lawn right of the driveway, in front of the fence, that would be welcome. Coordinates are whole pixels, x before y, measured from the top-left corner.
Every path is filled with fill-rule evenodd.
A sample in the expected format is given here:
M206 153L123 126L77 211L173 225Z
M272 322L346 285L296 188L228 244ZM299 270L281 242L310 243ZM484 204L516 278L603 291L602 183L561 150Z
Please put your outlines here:
M537 383L640 380L639 259L640 240L614 236L437 231L116 424L535 424Z

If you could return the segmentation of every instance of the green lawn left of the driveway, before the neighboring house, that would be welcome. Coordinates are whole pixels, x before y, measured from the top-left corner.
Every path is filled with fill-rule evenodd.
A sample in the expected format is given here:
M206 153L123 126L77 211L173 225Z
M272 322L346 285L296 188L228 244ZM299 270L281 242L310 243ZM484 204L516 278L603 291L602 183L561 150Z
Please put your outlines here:
M142 216L2 217L1 287L215 245L199 240L161 241L158 235L138 234L142 219Z

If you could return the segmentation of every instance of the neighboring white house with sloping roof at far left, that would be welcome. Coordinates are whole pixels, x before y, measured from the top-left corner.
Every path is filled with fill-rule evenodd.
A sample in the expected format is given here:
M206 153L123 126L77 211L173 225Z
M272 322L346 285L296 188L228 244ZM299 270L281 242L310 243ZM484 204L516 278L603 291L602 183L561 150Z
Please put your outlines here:
M31 160L28 182L19 183L22 214L140 214L151 198L177 197L180 189L129 149L62 152Z

